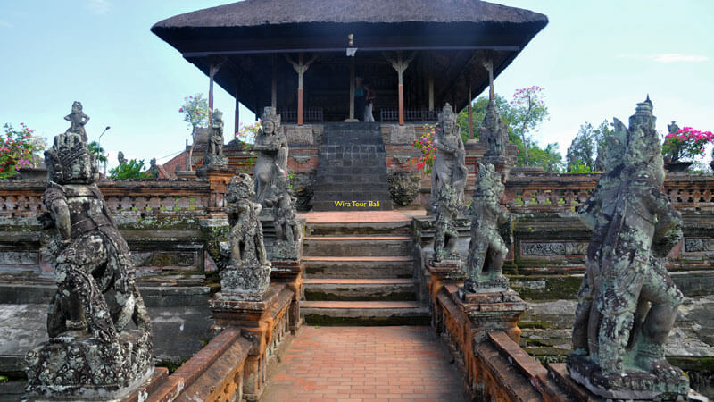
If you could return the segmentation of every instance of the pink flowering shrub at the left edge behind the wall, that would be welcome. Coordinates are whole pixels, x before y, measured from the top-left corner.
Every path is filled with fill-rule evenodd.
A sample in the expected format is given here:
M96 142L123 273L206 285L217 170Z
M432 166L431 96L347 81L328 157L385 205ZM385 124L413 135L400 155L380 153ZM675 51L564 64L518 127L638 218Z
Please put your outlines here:
M20 123L20 130L5 124L4 131L4 136L0 136L0 179L42 162L37 153L45 149L45 138L35 137L32 134L35 130L30 130L25 123Z

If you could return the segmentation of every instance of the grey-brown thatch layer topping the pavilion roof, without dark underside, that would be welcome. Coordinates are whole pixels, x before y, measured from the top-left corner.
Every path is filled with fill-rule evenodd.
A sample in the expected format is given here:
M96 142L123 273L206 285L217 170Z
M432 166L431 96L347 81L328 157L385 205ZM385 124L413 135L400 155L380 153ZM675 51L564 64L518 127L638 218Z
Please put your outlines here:
M253 27L311 22L496 22L538 23L534 13L479 0L245 0L184 13L157 22L152 30Z

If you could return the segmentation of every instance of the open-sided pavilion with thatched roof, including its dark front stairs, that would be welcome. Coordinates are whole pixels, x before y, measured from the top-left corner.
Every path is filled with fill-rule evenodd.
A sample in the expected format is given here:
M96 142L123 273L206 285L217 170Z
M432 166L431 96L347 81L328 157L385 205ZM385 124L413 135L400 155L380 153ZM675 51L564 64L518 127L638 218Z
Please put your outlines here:
M373 203L361 209L390 209L423 201L394 188L390 197L389 183L415 171L411 142L424 124L446 103L458 113L489 85L493 93L494 78L547 22L479 0L245 0L174 16L152 31L209 77L212 107L235 108L236 121L238 103L258 114L277 109L303 208L363 200ZM357 77L376 95L375 122L355 112ZM236 105L212 105L214 82ZM484 149L467 143L471 173ZM226 151L240 163L237 149Z

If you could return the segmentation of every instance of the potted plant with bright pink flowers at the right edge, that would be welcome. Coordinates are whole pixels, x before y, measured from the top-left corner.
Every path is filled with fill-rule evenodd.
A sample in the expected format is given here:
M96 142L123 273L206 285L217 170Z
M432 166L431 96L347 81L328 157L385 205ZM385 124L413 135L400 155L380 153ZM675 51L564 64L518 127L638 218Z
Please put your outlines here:
M668 172L686 172L697 158L702 157L704 147L714 140L711 131L693 130L691 127L680 129L674 121L667 128L669 133L662 144L662 155Z

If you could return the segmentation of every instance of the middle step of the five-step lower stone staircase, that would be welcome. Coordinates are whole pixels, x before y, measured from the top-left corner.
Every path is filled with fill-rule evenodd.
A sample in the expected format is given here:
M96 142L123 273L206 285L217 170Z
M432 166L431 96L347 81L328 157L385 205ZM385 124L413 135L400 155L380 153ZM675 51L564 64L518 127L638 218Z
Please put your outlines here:
M386 279L412 278L407 256L303 256L305 278Z

